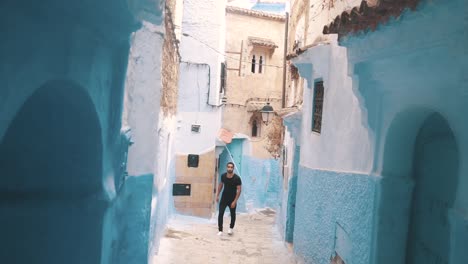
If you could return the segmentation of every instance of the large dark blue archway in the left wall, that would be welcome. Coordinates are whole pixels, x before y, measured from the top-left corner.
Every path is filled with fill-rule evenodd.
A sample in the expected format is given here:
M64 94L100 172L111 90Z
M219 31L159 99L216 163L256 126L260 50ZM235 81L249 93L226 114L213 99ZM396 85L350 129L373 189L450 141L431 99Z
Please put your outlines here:
M101 127L83 88L37 89L0 142L0 168L2 262L100 263Z

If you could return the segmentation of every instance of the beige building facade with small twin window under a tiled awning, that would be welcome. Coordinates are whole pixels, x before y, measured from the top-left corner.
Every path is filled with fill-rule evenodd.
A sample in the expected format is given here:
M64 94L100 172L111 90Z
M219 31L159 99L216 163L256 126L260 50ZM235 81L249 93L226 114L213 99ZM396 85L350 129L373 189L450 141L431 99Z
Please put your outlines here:
M226 11L223 127L248 138L251 156L275 157L281 143L280 119L265 124L260 110L267 103L281 108L285 17L231 6Z

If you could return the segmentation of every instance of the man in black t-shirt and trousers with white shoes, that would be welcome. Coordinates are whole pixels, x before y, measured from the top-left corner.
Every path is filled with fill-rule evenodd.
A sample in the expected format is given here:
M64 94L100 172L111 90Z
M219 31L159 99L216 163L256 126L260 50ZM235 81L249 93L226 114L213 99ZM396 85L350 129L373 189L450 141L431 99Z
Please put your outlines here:
M233 234L233 228L236 223L236 207L237 200L241 193L242 181L241 178L234 173L234 163L228 162L227 172L221 175L221 181L218 185L218 192L216 193L216 202L219 202L219 194L223 190L221 196L221 202L219 202L219 213L218 213L218 235L223 234L223 217L226 207L229 207L231 211L231 223L229 225L228 234Z

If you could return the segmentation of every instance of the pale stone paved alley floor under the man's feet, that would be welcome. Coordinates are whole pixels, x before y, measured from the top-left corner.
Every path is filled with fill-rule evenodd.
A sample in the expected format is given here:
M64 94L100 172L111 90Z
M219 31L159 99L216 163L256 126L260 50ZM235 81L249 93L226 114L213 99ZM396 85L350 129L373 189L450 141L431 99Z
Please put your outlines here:
M219 237L215 218L176 215L169 220L153 264L296 263L274 225L273 210L238 214L232 236L226 233L229 221L229 213L226 213L225 234Z

